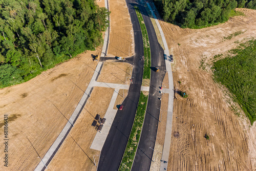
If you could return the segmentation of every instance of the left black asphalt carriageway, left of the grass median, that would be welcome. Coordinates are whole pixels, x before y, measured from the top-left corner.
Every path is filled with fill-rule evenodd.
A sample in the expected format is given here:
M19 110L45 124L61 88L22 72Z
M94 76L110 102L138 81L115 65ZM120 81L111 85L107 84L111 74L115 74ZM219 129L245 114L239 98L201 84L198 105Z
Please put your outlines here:
M127 2L132 4L132 1L130 0ZM127 6L129 3L127 3ZM127 140L130 136L137 110L137 104L139 101L143 75L143 61L140 60L141 56L143 55L143 41L137 15L131 5L129 5L129 12L131 15L133 30L135 34L135 55L133 58L134 67L132 73L133 83L130 86L127 97L122 103L124 108L122 111L118 111L116 113L109 135L103 145L97 168L97 170L100 171L118 170L127 144Z

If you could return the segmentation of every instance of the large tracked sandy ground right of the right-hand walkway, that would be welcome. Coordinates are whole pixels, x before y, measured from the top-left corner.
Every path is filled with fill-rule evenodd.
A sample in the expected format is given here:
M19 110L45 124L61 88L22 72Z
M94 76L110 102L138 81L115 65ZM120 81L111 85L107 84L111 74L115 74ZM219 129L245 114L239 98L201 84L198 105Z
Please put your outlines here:
M256 37L256 10L238 10L246 16L235 16L224 24L199 30L160 22L175 59L169 170L256 169L255 123L250 126L247 118L231 111L224 96L226 90L212 80L209 70L214 55L226 54L238 41ZM243 33L224 39L237 31ZM205 70L199 68L201 59L207 64ZM187 92L188 98L182 98L179 91Z

